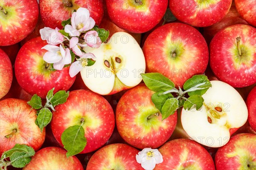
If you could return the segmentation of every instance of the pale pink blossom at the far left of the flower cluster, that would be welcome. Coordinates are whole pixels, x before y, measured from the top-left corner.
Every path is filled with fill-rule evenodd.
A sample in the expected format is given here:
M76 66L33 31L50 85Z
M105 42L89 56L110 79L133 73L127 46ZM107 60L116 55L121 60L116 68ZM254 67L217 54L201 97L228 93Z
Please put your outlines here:
M59 32L59 28L44 27L40 29L41 39L46 40L48 44L57 45L64 41L64 36Z

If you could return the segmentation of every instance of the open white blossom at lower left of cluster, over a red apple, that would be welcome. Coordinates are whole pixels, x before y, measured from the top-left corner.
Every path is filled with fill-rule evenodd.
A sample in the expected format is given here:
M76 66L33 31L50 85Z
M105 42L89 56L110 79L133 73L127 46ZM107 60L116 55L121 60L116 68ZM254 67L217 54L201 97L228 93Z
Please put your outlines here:
M70 49L64 49L62 45L59 47L56 45L47 44L41 49L46 49L47 52L44 54L44 61L53 63L55 70L62 70L64 65L71 63Z

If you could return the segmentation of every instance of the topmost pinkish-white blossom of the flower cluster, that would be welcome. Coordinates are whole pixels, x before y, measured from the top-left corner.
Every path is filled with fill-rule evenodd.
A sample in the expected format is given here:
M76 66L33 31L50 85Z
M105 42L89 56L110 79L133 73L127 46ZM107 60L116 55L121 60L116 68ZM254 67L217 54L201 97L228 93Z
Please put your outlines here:
M88 31L95 25L95 21L90 17L86 8L78 8L71 16L71 26L66 25L64 31L72 37L79 36L82 31Z

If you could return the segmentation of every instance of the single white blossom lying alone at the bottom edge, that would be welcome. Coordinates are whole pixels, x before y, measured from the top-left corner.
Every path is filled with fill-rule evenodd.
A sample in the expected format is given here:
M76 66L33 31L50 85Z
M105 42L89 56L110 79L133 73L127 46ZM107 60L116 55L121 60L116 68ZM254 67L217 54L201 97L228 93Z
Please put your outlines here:
M156 164L163 162L163 156L157 149L144 148L136 155L136 160L145 170L153 170Z

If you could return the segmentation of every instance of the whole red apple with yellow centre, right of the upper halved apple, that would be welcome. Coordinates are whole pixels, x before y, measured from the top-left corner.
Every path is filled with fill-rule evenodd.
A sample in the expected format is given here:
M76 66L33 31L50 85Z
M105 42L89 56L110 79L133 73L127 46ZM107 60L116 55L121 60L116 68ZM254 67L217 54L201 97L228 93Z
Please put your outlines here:
M176 56L172 57L175 52ZM169 23L155 29L143 46L146 72L158 72L178 88L207 68L207 43L198 30L183 23Z

